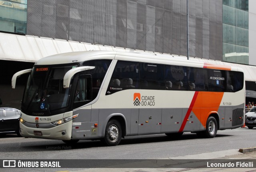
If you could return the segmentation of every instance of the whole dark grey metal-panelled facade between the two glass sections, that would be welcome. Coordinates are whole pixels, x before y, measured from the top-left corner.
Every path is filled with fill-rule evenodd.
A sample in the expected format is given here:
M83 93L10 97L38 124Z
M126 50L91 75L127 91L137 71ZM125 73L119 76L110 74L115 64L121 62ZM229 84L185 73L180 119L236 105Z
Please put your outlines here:
M222 0L188 3L190 56L222 60ZM27 34L187 55L186 6L187 0L28 0Z

